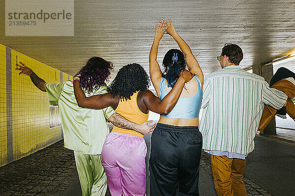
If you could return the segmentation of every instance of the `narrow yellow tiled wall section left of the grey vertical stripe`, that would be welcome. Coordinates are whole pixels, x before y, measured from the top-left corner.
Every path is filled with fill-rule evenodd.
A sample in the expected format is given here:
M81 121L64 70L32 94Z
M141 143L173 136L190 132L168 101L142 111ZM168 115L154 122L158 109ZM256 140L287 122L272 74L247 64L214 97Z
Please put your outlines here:
M0 166L7 164L6 49L0 45Z

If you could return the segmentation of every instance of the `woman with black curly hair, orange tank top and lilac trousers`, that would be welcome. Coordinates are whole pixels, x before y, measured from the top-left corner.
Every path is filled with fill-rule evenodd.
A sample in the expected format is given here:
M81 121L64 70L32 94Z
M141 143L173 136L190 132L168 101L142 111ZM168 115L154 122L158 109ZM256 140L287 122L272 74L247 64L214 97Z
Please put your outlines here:
M171 92L162 100L148 90L148 74L142 66L133 63L122 67L108 87L109 93L86 97L78 79L74 92L79 106L101 109L107 106L135 123L148 120L148 111L167 115L177 103L185 82L193 75L180 76ZM75 79L75 78L74 78ZM102 163L112 196L145 196L147 146L143 134L114 126L102 149Z

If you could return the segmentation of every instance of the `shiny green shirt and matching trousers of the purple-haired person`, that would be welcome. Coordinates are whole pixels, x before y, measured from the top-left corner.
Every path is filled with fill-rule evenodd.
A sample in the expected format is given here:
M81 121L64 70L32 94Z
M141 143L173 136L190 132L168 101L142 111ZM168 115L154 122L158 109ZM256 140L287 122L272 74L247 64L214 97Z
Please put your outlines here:
M78 106L73 84L45 84L50 104L58 105L63 130L64 147L74 150L76 166L83 196L104 196L107 177L101 164L101 149L110 130L106 124L115 111L111 107L102 110ZM106 93L101 86L92 95Z

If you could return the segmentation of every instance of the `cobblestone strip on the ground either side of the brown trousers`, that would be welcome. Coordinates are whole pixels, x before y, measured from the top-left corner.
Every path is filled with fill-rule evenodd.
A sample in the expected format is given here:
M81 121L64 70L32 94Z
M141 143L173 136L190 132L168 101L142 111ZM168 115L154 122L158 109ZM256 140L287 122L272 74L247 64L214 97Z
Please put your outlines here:
M210 174L213 180L210 154L208 154L207 152L204 152L203 150L201 155L200 166ZM266 190L264 190L262 187L255 184L251 180L244 177L243 181L245 183L247 196L272 196Z

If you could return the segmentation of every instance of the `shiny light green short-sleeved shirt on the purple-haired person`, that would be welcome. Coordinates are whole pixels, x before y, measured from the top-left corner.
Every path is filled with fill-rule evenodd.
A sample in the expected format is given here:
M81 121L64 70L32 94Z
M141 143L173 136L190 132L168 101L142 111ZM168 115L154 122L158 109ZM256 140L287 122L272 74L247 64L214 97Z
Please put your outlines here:
M46 83L45 88L50 104L59 106L64 147L84 154L101 154L102 145L110 132L106 119L115 111L111 107L102 110L79 107L69 80L59 84ZM101 86L90 96L107 93L106 89L106 86Z

